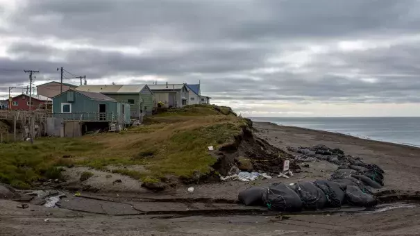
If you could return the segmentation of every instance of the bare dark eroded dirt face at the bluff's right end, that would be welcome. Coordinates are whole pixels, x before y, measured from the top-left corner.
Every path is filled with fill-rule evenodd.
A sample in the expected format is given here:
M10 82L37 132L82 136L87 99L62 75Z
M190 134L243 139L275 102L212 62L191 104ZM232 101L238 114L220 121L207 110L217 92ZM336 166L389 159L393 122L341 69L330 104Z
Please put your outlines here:
M244 160L248 171L252 168L253 171L278 174L283 170L285 160L290 160L290 169L300 169L292 155L256 137L250 120L242 127L242 132L235 136L235 141L224 144L212 154L217 158L212 168L221 176L228 175L232 167L244 165Z

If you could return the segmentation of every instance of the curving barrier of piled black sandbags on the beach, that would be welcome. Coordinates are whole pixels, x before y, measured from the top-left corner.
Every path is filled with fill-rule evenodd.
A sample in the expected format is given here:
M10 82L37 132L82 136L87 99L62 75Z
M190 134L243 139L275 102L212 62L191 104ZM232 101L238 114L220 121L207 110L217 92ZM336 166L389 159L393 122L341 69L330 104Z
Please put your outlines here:
M339 167L328 180L250 187L238 195L244 205L262 205L280 212L341 208L344 204L356 207L376 205L372 188L383 187L385 173L378 165L364 163L360 158L324 145L287 149L301 153L299 160L327 160Z

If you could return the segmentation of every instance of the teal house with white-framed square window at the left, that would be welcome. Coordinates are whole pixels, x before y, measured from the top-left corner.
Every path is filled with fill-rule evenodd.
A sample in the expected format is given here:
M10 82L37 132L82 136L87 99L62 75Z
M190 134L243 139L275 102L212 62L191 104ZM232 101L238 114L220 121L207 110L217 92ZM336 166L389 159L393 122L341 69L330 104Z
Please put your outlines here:
M130 105L98 92L67 90L53 97L53 117L130 124Z

